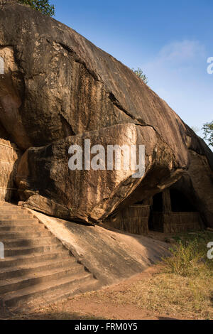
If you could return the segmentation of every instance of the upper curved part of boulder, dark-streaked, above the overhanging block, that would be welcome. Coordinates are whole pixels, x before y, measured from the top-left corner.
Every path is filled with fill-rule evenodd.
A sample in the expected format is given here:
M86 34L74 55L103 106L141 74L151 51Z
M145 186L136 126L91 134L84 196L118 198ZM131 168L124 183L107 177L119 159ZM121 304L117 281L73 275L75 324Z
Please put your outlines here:
M138 123L158 131L178 163L187 165L185 126L178 115L111 55L53 18L10 1L1 10L0 30L13 81L2 90L0 120L21 148ZM17 134L9 126L14 115Z

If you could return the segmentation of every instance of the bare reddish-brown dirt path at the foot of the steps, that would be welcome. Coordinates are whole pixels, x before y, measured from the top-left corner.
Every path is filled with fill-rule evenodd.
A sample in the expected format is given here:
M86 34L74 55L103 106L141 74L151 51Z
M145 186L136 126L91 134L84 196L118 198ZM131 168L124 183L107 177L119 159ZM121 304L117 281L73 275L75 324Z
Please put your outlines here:
M55 303L48 308L37 311L31 314L28 318L37 319L110 319L110 320L170 320L181 319L180 316L170 316L166 314L153 313L144 309L137 308L131 305L117 305L111 303L109 298L104 301L104 293L125 293L126 289L136 281L142 279L146 280L153 274L157 274L160 271L160 266L152 266L143 273L127 279L120 284L114 286L108 286L101 291L101 297L99 292L85 293L82 296L71 298L61 303Z

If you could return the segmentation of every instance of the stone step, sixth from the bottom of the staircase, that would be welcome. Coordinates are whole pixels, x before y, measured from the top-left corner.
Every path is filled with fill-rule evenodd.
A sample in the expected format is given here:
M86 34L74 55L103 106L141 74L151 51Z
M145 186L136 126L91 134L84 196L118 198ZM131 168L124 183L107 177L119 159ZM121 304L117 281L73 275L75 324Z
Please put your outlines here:
M48 244L61 244L60 240L56 237L43 237L43 238L25 238L25 239L5 239L4 247L33 247L33 246L45 246Z

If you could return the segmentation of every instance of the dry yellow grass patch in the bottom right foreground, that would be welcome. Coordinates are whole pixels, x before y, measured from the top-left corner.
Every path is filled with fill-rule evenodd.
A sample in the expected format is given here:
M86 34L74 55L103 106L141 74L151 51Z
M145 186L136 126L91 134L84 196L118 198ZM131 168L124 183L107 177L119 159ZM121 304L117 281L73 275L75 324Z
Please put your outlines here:
M191 279L177 274L161 273L138 281L122 292L98 292L102 301L106 299L120 306L131 304L170 317L213 319L211 301L212 279Z

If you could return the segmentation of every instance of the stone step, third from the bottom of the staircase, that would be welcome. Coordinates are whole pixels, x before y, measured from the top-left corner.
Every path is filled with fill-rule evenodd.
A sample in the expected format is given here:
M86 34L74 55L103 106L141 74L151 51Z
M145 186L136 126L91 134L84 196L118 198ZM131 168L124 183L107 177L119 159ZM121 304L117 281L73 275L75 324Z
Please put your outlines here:
M22 266L15 266L11 268L0 268L0 281L4 279L14 279L16 277L24 277L29 274L39 274L42 271L53 271L54 269L72 267L76 269L80 266L77 264L75 257L68 257L60 261L59 259L52 259L47 262L39 262L35 264L27 264Z

